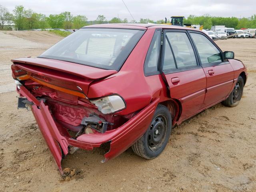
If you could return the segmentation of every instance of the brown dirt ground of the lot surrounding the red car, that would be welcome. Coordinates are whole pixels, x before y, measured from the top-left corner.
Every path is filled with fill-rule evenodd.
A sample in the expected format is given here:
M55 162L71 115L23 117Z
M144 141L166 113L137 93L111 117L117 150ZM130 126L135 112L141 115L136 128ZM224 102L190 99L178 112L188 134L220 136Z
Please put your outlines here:
M62 162L63 180L32 112L17 109L10 59L38 56L61 37L0 32L0 192L256 192L256 39L219 40L248 67L240 104L216 106L173 128L164 152L145 160L126 150L100 163L102 152L78 150Z

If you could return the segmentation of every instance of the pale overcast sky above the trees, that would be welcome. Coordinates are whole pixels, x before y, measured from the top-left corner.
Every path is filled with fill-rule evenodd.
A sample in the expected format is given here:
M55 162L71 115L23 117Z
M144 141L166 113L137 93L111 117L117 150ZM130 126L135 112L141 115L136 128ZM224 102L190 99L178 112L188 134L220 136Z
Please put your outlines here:
M135 20L150 18L164 19L170 16L210 14L223 17L249 17L256 14L256 0L124 0ZM22 4L34 12L59 14L69 11L75 15L85 15L95 20L103 14L107 20L119 16L132 20L122 0L0 0L0 4L10 12Z

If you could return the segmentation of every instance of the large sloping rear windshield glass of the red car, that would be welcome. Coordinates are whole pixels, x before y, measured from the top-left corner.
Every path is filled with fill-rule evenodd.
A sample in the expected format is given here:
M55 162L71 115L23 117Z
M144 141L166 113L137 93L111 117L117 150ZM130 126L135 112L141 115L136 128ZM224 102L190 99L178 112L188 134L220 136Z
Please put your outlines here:
M144 30L82 28L38 57L119 70L143 34Z

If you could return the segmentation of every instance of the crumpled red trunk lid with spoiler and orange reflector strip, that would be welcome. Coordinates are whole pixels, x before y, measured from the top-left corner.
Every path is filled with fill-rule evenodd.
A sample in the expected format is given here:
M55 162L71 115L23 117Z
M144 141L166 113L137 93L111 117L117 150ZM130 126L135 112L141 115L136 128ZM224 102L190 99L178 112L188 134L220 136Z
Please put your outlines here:
M14 78L27 74L29 79L39 84L76 96L81 95L79 92L87 95L92 81L117 72L46 58L18 58L12 62Z

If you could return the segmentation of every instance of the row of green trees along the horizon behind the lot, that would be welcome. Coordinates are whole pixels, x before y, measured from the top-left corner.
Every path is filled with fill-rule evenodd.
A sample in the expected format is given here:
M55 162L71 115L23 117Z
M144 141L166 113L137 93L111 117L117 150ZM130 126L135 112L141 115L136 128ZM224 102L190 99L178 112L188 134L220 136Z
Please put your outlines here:
M140 18L139 21L131 20L130 23L164 23L165 20L150 20L149 18ZM170 20L167 20L170 22ZM0 30L10 30L12 24L18 30L30 29L46 29L46 28L63 28L63 29L79 29L83 26L103 23L128 23L127 18L114 17L106 20L104 15L98 15L96 20L88 21L84 15L73 16L70 12L62 12L60 14L36 13L31 9L26 9L22 5L15 6L12 13L6 7L0 5ZM214 17L210 15L195 16L190 15L184 20L184 24L203 25L205 29L210 29L214 25L224 25L229 28L256 28L256 15L250 18L236 17Z

